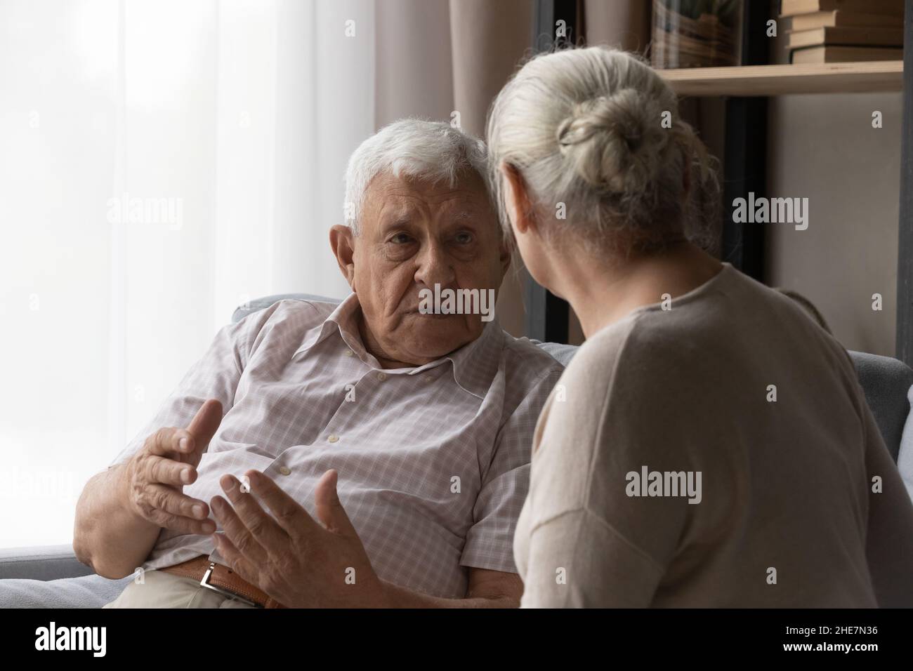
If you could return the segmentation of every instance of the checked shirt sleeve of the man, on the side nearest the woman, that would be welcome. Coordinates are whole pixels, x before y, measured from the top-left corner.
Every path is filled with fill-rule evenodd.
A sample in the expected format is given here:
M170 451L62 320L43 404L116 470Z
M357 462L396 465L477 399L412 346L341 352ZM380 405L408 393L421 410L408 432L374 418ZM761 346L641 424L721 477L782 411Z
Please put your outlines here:
M532 435L540 411L561 377L561 368L544 375L501 427L488 472L473 508L460 565L516 573L513 535L530 488Z

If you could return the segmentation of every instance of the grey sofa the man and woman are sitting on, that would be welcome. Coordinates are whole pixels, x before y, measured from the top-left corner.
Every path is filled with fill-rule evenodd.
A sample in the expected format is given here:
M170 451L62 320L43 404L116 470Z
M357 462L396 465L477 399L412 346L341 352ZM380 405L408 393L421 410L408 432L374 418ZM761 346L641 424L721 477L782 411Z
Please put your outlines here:
M280 294L253 300L239 307L232 321L266 308L280 299L311 299L339 302L310 294ZM559 362L571 361L576 347L533 341ZM891 456L897 461L900 436L910 405L907 393L913 385L913 370L896 359L850 351ZM131 581L131 576L112 581L96 575L80 563L68 545L0 550L0 607L99 608L112 601Z

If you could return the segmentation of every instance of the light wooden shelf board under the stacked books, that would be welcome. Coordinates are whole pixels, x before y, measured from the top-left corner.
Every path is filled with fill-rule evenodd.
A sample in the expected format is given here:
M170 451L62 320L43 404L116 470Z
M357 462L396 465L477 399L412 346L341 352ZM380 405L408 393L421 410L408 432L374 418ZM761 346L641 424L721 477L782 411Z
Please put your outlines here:
M682 96L780 96L903 89L902 60L657 70Z

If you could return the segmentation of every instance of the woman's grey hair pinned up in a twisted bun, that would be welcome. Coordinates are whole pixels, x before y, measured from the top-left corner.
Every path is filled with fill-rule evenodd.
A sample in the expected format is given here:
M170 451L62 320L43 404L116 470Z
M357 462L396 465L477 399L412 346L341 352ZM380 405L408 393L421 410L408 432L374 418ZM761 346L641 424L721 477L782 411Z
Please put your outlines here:
M715 242L715 160L678 116L675 92L632 54L587 47L532 58L492 103L487 140L489 188L511 239L505 163L526 184L550 242L616 253L683 236Z

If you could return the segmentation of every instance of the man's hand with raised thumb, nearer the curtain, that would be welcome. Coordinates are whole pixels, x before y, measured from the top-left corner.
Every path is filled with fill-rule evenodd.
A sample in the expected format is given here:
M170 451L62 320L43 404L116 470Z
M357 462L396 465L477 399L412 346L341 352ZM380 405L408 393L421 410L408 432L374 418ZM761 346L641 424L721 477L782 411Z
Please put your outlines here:
M221 422L222 404L209 399L186 429L161 428L146 438L124 474L128 505L138 516L184 533L215 531L205 501L183 489L196 480L196 467Z

